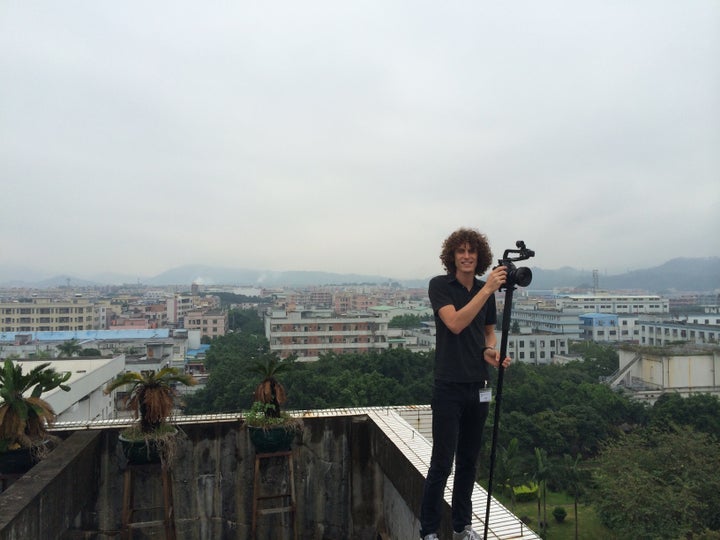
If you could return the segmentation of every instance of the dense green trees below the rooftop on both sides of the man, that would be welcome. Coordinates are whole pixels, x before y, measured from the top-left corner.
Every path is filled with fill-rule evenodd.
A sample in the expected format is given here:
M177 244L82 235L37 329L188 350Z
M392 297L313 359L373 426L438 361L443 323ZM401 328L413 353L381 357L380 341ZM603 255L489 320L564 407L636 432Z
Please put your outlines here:
M188 400L188 413L249 409L257 386L253 366L279 361L257 315L245 312L237 320L243 322L237 331L212 342L208 384ZM505 372L493 495L516 515L533 516L527 522L553 540L717 538L720 400L667 394L648 407L600 383L618 369L614 349L581 343L573 352L584 360L515 362ZM431 398L432 353L327 354L317 362L291 358L282 365L290 410L424 404ZM491 415L481 457L485 476L493 420ZM531 482L536 495L523 502L511 488ZM566 511L561 523L553 517L556 507Z

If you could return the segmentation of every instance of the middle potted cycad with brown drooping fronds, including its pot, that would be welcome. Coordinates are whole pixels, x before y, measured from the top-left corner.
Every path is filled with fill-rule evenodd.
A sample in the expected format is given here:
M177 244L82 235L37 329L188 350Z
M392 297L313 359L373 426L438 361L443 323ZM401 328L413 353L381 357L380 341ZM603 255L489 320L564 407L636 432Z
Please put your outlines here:
M120 387L128 388L126 406L139 423L120 432L119 440L130 463L170 461L177 428L167 422L175 407L177 390L182 384L192 386L197 380L177 368L158 371L127 371L105 387L109 394Z

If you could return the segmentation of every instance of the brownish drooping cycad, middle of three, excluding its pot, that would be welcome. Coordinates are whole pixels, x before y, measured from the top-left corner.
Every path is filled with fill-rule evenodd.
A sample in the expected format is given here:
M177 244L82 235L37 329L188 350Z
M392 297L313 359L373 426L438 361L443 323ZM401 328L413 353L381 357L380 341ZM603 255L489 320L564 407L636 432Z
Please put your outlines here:
M105 387L105 393L122 386L129 387L126 405L134 412L135 418L140 418L143 434L149 434L157 431L172 413L177 397L176 384L192 386L197 384L197 380L172 367L158 371L128 371L110 382Z

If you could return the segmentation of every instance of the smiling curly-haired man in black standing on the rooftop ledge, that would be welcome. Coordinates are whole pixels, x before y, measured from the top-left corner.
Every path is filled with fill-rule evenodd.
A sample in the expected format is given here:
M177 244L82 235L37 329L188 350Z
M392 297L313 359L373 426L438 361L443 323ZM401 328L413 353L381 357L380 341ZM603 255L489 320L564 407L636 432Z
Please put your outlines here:
M447 274L432 278L428 287L436 328L433 449L420 509L420 536L438 538L443 492L454 457L453 540L479 540L471 527L471 497L490 408L488 365L500 364L495 350L495 291L505 283L507 269L502 265L493 269L487 282L475 277L490 267L492 252L485 235L474 229L458 229L448 236L440 260ZM503 367L509 365L510 358L505 358Z

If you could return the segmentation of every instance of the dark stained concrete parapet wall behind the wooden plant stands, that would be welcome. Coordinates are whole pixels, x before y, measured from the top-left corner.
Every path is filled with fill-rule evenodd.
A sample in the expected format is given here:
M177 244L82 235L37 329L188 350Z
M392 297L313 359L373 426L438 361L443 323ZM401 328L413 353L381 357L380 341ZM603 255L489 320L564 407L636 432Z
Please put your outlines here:
M239 421L183 424L181 430L171 464L177 538L250 538L255 451L247 430ZM8 499L6 494L0 494L3 518L12 513L5 511L11 510L11 501L17 507L25 505L27 514L20 520L27 523L20 536L12 536L9 526L2 526L0 540L117 538L122 524L126 469L117 435L118 431L113 429L74 433L55 451L63 449L62 453L57 456L53 453L58 458L54 460L56 465L48 459L37 465L29 478L17 482L18 486L21 482L27 485L31 478L37 478L40 484L34 486L38 492L34 498L26 490ZM75 443L65 446L73 440ZM298 538L376 540L406 536L398 527L407 533L407 524L414 517L411 508L419 506L422 475L412 469L367 416L305 419L293 448ZM81 456L87 462L83 467L77 463ZM55 474L40 476L41 466L52 468ZM286 462L273 458L265 463L261 478L262 493L286 490L289 479ZM134 506L153 508L138 511L133 519L161 520L159 467L137 470L134 480ZM388 500L389 497L397 499ZM38 504L36 513L27 510L28 505ZM61 509L63 505L68 508ZM50 515L57 508L57 518L62 514L64 521L48 520L50 508ZM44 526L45 522L49 530L31 528ZM5 524L0 521L0 525ZM293 538L291 525L289 516L262 516L258 521L258 538ZM133 538L158 537L164 537L162 526L138 529L133 535Z

